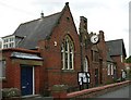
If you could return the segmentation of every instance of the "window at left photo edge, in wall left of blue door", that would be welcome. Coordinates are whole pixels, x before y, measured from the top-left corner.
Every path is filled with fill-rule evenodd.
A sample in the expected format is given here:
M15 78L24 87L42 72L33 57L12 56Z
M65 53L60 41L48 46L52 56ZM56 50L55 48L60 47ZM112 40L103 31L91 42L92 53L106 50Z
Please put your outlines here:
M5 60L0 60L0 78L5 78Z

